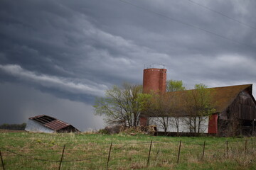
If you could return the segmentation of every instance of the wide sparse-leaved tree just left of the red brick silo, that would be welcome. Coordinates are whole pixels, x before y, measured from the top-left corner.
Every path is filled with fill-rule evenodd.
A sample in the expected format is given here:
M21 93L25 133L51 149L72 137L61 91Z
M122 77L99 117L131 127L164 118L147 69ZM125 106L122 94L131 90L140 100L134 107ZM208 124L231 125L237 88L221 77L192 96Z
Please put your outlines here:
M95 115L105 115L108 125L137 126L141 112L139 94L142 94L141 85L113 86L105 91L105 98L96 98Z

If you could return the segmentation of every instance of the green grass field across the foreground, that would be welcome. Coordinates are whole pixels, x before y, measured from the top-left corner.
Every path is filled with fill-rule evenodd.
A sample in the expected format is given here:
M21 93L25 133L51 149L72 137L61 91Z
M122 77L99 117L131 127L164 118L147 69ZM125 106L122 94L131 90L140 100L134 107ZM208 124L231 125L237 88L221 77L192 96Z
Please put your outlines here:
M0 130L5 169L58 169L64 145L61 169L107 169L111 142L108 169L256 169L255 137L44 134Z

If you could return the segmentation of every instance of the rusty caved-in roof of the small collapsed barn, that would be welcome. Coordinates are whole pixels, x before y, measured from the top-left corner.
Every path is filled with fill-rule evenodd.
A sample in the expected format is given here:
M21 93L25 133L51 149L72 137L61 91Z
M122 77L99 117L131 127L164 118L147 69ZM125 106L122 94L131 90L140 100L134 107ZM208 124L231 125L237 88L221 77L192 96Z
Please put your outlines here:
M61 130L68 126L73 127L73 125L70 125L68 123L63 122L62 120L58 120L58 119L53 118L48 115L37 115L37 116L31 117L29 119L35 120L36 122L40 123L41 125L45 126L46 128L49 128L49 129L55 130L55 131Z

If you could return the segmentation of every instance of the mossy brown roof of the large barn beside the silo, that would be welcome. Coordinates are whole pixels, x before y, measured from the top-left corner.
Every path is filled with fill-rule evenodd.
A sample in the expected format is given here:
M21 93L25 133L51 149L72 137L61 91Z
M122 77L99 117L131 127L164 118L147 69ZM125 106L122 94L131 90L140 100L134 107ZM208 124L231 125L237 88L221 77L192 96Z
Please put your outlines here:
M228 106L235 100L235 98L240 94L242 91L247 91L248 94L252 96L252 84L243 84L243 85L236 85L236 86L222 86L222 87L214 87L208 88L210 90L210 94L212 95L212 103L215 108L215 113L221 113L225 111ZM189 90L193 91L193 90ZM179 98L179 100L183 100L186 96L188 91L174 91L174 92L167 92L169 95L173 95L174 97ZM255 101L255 98L252 99ZM182 113L181 113L182 115Z

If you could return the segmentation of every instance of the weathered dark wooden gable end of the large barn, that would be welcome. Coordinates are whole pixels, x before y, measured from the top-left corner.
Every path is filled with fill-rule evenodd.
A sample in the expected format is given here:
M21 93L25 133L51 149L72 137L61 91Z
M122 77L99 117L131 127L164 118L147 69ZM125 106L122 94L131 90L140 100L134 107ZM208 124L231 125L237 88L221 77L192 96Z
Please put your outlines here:
M220 135L253 135L255 133L256 104L252 86L240 91L230 105L218 114Z

